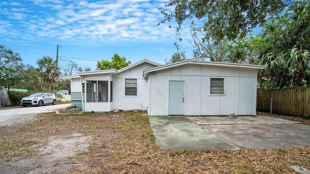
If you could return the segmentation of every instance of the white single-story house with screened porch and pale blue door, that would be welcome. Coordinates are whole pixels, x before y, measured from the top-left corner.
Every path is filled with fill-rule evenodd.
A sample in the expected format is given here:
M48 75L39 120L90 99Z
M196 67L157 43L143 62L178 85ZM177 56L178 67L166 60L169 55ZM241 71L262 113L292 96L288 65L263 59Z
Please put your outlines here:
M72 105L85 112L147 110L149 116L256 115L261 65L140 60L120 70L80 72L71 81ZM82 102L83 101L83 102Z

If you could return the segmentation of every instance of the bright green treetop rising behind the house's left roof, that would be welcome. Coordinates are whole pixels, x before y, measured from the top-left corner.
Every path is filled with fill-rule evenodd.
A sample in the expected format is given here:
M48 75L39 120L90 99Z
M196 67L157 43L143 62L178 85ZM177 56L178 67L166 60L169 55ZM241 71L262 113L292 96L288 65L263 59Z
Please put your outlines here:
M96 70L109 70L109 69L119 70L131 64L131 61L126 61L125 57L121 57L116 53L113 55L111 59L112 61L109 60L97 61Z

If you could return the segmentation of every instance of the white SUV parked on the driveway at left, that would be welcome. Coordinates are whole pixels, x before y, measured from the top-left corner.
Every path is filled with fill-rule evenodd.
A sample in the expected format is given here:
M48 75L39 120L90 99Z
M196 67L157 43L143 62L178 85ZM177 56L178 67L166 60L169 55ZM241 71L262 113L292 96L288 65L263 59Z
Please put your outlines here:
M29 105L42 106L43 104L56 104L56 96L52 93L34 93L28 97L24 97L20 101L20 105L27 107Z

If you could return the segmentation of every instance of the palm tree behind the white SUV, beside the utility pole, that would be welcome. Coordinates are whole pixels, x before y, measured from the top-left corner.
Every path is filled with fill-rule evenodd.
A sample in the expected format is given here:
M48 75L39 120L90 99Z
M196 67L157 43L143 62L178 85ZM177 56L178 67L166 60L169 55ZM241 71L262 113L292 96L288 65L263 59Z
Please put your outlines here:
M38 59L39 76L43 81L43 92L51 91L51 85L55 84L55 79L60 76L59 68L56 67L57 61L53 61L49 56ZM46 88L45 88L46 87Z

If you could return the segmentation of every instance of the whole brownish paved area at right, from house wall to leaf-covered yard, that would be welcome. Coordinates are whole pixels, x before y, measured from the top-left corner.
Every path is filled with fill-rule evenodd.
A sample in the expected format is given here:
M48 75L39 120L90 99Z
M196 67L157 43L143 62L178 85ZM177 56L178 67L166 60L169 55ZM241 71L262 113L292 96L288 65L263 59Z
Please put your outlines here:
M310 126L270 116L187 116L238 147L278 148L310 145Z

